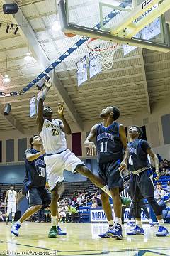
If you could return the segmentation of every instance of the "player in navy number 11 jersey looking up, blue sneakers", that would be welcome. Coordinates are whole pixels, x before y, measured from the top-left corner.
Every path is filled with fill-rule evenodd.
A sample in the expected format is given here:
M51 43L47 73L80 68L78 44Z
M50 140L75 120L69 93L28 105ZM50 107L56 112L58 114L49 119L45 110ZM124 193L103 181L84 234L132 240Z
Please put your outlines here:
M92 140L96 137L98 173L103 178L103 181L107 183L113 198L115 225L113 224L109 196L106 193L101 193L102 206L109 225L108 231L99 235L102 238L114 237L122 239L120 191L123 191L123 178L120 175L120 171L126 168L125 161L128 159L128 143L125 128L122 124L115 122L119 116L120 111L117 107L106 107L100 114L103 122L91 128L91 132L84 142L84 146L89 148L88 154L94 155L96 154L96 146Z

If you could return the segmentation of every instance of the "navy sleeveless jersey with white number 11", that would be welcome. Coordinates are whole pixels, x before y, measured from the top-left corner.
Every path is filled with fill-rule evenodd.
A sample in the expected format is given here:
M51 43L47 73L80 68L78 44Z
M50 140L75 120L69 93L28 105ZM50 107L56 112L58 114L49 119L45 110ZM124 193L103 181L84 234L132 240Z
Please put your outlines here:
M102 123L98 124L96 141L99 163L123 159L123 144L120 140L118 122L113 122L109 127L104 127Z

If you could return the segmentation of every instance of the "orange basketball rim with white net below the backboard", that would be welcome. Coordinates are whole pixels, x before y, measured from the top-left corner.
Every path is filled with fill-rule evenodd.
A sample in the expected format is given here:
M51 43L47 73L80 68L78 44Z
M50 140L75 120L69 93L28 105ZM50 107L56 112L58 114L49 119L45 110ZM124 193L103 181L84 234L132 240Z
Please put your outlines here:
M87 48L90 50L90 54L98 60L98 63L101 63L103 71L113 68L113 57L118 46L118 43L103 41L97 38L91 38L87 42Z

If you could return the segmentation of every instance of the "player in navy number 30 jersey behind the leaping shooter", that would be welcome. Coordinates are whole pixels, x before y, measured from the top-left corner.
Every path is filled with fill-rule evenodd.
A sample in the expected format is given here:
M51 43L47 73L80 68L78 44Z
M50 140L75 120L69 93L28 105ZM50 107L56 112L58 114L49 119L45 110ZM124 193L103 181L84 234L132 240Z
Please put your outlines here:
M30 149L26 150L26 177L23 181L23 193L28 196L30 208L11 228L11 233L18 236L18 230L24 220L38 212L40 208L50 205L51 193L45 188L46 166L45 151L42 149L42 139L38 135L30 137Z

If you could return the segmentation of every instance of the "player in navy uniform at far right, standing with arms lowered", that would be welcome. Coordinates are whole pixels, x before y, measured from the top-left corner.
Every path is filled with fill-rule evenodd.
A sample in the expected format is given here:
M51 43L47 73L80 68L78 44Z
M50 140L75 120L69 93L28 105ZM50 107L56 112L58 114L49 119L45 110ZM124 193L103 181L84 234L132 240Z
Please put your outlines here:
M142 136L142 129L137 126L132 126L129 129L130 143L129 147L129 164L128 169L131 172L130 177L130 197L134 204L134 213L136 226L128 235L144 234L140 217L140 201L146 198L152 206L157 220L159 223L159 230L157 236L169 235L168 230L164 227L164 220L162 218L162 208L157 204L154 199L154 186L152 182L152 170L148 160L148 154L151 156L156 169L157 177L159 179L159 159L152 150L151 146L146 140L140 139Z

